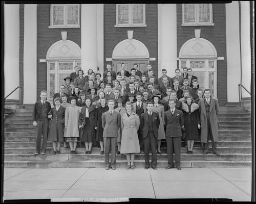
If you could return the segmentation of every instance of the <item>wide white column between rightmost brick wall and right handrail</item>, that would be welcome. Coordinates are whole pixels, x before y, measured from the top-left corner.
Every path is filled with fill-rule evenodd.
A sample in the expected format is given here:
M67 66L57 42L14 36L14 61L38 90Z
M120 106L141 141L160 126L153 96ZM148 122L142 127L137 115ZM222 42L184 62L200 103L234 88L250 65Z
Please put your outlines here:
M238 2L226 4L227 101L239 102L241 81Z

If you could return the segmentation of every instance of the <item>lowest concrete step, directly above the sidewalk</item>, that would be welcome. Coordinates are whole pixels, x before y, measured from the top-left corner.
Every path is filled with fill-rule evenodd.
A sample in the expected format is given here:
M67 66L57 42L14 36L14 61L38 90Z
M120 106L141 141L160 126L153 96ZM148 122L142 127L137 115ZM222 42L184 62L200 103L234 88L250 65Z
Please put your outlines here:
M135 166L144 168L144 161L135 160ZM105 167L104 161L5 161L6 168L76 168L76 167ZM116 161L117 168L125 168L126 161ZM157 168L167 166L167 161L157 161ZM181 161L181 168L205 167L237 167L251 168L251 161ZM111 170L111 169L110 169ZM118 169L117 169L118 170Z

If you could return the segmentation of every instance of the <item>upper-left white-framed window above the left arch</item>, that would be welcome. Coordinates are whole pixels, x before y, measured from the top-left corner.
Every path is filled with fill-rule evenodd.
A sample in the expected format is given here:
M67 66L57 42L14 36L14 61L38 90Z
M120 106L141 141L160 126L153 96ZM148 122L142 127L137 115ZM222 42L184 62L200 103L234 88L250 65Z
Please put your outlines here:
M79 4L51 4L49 28L80 28Z

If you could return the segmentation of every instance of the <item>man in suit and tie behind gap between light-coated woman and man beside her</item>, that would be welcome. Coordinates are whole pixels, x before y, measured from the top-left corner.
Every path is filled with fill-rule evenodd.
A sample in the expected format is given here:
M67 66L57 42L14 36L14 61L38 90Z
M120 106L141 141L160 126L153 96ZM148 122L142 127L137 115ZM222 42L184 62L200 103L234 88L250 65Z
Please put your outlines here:
M132 104L133 112L136 113L139 118L141 118L141 114L146 112L146 104L142 102L142 94L140 92L136 93L137 102ZM143 154L144 145L143 145L143 136L141 134L140 129L138 130L138 138L140 143L140 152Z

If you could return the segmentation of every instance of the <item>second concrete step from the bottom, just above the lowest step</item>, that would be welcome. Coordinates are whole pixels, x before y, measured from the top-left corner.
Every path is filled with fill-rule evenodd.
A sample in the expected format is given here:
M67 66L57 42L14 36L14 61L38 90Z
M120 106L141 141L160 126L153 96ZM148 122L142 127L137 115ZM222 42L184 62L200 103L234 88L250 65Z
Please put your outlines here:
M87 160L104 160L104 155L100 154L91 154L91 155L84 155L84 154L77 154L77 155L70 155L70 154L60 154L60 155L39 155L34 156L33 154L12 154L12 155L5 155L5 161L87 161ZM136 160L144 160L144 154L136 154ZM150 160L152 156L150 154ZM116 160L125 160L125 155L116 155ZM157 160L168 160L167 154L157 155ZM182 161L196 161L196 160L205 160L205 161L251 161L251 154L222 154L220 156L216 156L214 154L202 155L202 154L181 154Z

